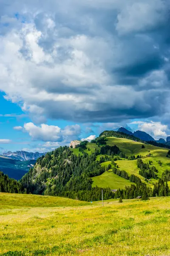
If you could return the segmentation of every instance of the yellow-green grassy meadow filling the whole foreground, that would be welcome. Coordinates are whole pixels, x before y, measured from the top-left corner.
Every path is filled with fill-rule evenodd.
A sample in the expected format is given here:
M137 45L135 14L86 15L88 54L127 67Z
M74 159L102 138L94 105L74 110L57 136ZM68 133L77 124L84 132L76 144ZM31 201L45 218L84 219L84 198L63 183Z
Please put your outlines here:
M102 207L0 193L1 256L170 255L169 226L170 197Z

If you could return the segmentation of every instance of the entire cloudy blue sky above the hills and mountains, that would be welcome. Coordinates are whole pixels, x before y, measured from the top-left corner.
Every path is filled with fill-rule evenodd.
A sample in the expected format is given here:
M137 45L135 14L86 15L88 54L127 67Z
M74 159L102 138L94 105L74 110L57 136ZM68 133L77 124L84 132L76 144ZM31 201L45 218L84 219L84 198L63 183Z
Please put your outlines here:
M170 135L170 2L0 0L0 153Z

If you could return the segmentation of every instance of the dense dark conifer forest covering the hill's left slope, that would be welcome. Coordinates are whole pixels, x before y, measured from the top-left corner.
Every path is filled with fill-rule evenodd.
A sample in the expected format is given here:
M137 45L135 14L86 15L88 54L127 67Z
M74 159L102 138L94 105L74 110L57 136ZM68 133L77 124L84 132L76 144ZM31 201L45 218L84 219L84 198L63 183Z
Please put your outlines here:
M98 190L92 189L91 177L105 172L105 168L96 161L96 156L101 152L111 156L120 153L116 146L101 147L94 153L84 152L82 155L74 154L67 146L57 148L45 157L40 157L34 169L31 168L23 176L21 183L27 193L58 195L85 201L91 201L93 195L98 200ZM101 194L101 189L99 191ZM105 189L104 192L108 193L107 198L113 194L110 189Z

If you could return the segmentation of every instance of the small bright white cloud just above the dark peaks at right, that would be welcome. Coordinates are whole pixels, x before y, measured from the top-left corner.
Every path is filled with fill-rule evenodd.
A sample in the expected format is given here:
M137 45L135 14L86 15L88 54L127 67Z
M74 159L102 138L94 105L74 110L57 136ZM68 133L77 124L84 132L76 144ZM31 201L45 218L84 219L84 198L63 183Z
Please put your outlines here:
M167 125L162 125L161 122L143 122L138 125L139 130L145 131L156 139L160 137L166 138L170 132Z

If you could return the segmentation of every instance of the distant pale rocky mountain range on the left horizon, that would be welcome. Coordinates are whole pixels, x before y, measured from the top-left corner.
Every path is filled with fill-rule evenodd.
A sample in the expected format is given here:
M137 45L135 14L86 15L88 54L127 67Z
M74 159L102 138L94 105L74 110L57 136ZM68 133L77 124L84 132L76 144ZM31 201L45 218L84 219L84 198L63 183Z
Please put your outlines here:
M26 152L26 151L16 151L11 152L8 151L7 153L3 153L2 155L4 157L8 157L10 159L14 160L20 160L20 161L28 161L28 160L37 160L37 158L42 157L46 153L39 153L39 152Z

